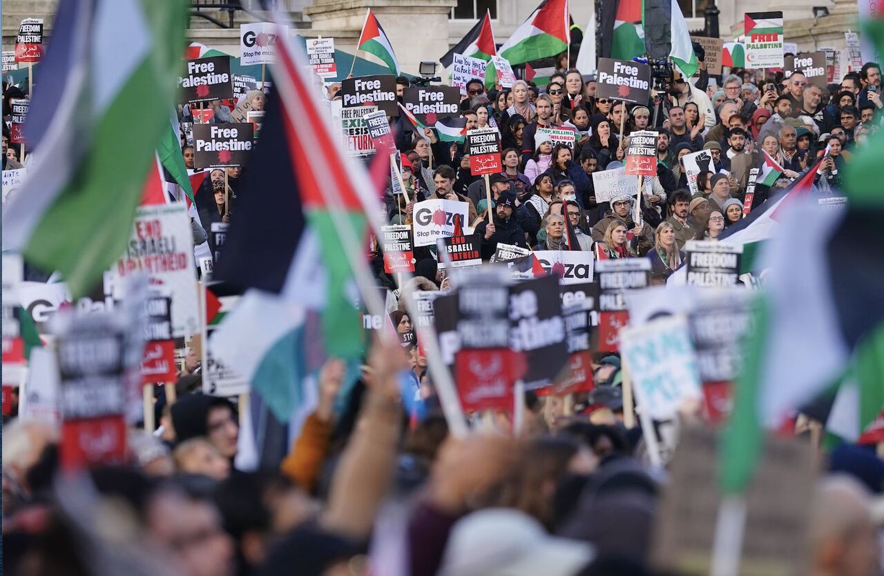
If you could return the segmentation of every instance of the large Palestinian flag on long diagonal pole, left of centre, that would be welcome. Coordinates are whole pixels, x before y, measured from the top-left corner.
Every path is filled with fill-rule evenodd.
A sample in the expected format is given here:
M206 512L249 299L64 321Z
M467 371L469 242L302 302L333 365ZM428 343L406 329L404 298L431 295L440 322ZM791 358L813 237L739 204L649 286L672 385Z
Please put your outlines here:
M244 293L211 342L262 398L285 396L268 405L287 421L327 357L364 352L354 276L361 285L370 277L362 201L377 195L361 198L369 178L354 176L360 168L340 149L290 40L278 43L277 57L277 89L215 269Z

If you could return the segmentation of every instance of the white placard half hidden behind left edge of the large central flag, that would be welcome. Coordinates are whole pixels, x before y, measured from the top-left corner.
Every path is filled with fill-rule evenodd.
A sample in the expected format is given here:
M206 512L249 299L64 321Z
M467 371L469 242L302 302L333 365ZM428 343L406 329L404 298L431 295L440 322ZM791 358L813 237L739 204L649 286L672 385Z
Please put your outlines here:
M214 345L211 335L217 330L224 316L239 302L235 294L216 293L218 288L203 287L200 299L202 310L202 393L210 396L238 396L248 392L249 384L243 376L231 368L231 363L222 358Z

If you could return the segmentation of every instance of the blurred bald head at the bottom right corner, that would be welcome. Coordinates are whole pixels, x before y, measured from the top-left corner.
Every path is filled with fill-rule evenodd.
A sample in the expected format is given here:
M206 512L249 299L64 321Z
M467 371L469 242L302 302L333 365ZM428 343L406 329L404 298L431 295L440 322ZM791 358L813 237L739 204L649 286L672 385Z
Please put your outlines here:
M878 539L868 491L846 475L819 482L811 515L812 573L877 574Z

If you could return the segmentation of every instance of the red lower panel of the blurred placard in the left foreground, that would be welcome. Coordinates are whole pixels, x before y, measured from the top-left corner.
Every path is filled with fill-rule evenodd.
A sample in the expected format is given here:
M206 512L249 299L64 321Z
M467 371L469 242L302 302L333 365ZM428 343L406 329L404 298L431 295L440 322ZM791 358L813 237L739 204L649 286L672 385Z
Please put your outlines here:
M122 415L64 421L60 449L64 470L122 464L126 459L126 422Z

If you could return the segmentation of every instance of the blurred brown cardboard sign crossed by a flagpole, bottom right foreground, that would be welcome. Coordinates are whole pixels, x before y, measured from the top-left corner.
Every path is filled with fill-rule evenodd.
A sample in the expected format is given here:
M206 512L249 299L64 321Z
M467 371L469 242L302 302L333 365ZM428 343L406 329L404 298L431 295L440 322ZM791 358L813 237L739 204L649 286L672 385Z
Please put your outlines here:
M741 576L807 573L808 530L816 472L811 443L766 436L745 493ZM652 530L651 561L659 572L712 572L722 495L720 440L712 428L686 426L668 466ZM783 481L788 479L788 481Z

